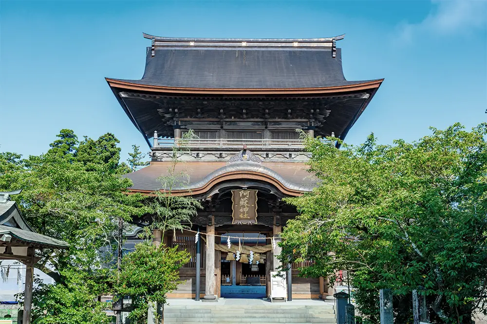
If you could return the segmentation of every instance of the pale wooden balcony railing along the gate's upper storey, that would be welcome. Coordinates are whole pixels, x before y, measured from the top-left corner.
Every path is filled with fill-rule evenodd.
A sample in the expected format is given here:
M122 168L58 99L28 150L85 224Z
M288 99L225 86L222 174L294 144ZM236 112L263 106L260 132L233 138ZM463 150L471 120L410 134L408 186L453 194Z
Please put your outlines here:
M303 148L301 139L174 139L174 138L154 138L154 147L172 147L179 144L189 148L235 148L241 149L244 144L250 148Z

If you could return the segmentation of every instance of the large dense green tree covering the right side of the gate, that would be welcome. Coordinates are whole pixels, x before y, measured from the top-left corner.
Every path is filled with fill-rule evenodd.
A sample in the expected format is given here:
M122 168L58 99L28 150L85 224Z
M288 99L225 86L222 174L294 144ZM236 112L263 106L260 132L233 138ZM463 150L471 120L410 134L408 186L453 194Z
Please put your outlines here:
M486 124L455 124L341 150L306 137L319 185L287 200L300 216L282 233L281 259L314 260L303 275L348 270L365 322L378 323L380 288L394 291L396 321L411 322L411 291L424 287L433 323L471 323L475 309L487 313L486 135Z

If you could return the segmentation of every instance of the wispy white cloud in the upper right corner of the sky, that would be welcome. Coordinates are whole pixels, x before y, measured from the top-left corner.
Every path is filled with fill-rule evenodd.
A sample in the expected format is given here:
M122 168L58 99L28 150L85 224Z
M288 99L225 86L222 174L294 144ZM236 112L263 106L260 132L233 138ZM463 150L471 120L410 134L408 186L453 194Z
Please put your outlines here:
M403 22L398 26L399 40L412 41L421 34L458 36L486 28L487 0L431 0L430 14L421 22Z

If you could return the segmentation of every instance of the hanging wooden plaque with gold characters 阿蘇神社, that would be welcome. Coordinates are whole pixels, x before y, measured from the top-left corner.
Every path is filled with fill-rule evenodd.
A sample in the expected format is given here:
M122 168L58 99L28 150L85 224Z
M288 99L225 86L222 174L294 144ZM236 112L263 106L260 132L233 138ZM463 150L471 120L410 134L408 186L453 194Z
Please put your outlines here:
M233 224L257 224L257 190L232 190Z

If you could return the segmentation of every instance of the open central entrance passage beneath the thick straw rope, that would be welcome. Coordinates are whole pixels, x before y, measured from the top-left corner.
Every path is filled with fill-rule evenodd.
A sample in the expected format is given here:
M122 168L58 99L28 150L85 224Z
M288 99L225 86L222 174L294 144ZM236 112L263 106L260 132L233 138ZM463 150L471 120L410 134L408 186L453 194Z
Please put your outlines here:
M232 233L232 235L238 235ZM245 236L252 234L245 233ZM254 234L256 243L259 234ZM265 244L265 236L261 237ZM247 242L245 242L247 243ZM249 242L250 243L250 242ZM252 244L253 242L251 242ZM255 243L254 243L255 244ZM231 257L230 259L232 259ZM226 254L221 259L221 283L220 294L224 298L265 298L266 273L264 261L242 263L237 260L228 260Z

